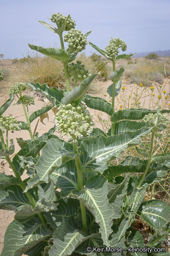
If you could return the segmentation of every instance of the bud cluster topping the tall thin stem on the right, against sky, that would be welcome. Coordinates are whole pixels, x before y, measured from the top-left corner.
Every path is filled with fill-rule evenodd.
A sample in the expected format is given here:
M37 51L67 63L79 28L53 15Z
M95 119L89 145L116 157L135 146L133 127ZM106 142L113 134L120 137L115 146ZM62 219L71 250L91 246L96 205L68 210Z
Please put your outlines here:
M110 58L113 58L113 56L118 55L120 47L123 52L127 50L127 44L125 44L123 40L119 39L120 44L117 45L117 40L118 40L117 37L115 37L114 39L112 38L108 46L106 46L105 48L106 55L109 56Z

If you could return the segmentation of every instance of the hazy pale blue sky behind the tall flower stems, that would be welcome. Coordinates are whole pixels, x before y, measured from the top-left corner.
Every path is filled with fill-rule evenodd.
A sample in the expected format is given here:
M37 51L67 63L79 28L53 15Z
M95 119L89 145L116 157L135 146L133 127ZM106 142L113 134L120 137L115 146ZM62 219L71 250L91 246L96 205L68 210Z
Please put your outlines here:
M58 35L37 21L55 25L47 17L56 12L70 14L84 34L92 30L88 40L103 50L111 36L127 43L126 53L170 50L170 0L0 0L0 54L22 58L27 43L60 47Z

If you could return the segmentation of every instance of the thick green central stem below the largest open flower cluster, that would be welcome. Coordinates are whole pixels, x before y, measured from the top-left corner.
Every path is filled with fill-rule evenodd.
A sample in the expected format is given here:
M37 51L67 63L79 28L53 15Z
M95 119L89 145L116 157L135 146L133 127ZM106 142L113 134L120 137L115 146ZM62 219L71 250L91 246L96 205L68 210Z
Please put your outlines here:
M77 140L73 141L73 149L75 154L79 154ZM76 161L76 167L77 167L78 189L80 191L83 188L83 176L82 176L80 157L76 158L75 161ZM86 210L85 210L85 205L81 203L81 201L80 201L80 208L81 208L81 218L82 218L83 229L85 232L87 232L88 227L87 227Z

